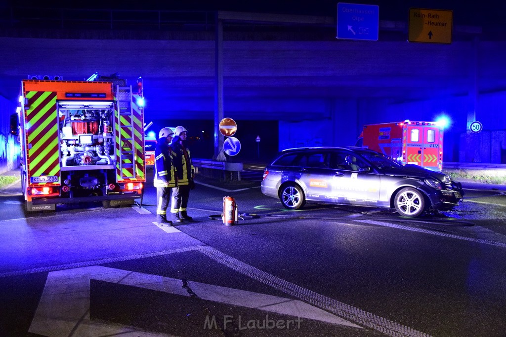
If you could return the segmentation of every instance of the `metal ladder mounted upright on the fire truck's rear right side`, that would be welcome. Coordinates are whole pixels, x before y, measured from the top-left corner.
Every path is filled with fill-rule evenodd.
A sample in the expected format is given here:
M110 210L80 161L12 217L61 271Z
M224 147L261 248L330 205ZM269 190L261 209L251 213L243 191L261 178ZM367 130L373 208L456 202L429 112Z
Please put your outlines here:
M116 98L119 114L119 172L121 179L136 178L134 146L134 109L132 108L132 86L117 86ZM132 170L123 170L132 169ZM132 174L130 174L130 171Z

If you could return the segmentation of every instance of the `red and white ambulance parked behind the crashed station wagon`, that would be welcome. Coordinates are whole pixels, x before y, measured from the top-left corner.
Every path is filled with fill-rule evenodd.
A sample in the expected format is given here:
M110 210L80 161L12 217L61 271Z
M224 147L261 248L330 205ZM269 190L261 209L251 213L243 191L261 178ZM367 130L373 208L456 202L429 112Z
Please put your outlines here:
M364 125L362 144L398 161L431 170L443 169L443 127L437 122L402 122ZM360 142L360 139L359 139Z

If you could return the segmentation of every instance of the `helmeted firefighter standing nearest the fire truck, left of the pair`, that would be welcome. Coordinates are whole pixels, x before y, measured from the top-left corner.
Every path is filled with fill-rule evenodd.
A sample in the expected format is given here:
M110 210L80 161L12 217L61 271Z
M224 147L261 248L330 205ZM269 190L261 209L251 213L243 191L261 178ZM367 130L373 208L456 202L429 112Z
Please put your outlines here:
M173 164L170 142L174 131L164 127L158 133L155 147L155 172L153 185L156 187L156 222L172 225L167 219L167 208L171 200L171 188L176 186L176 173Z

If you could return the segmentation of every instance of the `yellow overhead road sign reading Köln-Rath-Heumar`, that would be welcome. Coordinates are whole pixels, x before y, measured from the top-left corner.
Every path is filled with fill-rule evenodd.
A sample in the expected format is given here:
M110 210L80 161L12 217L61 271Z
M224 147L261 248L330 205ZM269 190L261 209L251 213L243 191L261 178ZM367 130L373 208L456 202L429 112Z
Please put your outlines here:
M451 43L453 11L409 9L409 42Z

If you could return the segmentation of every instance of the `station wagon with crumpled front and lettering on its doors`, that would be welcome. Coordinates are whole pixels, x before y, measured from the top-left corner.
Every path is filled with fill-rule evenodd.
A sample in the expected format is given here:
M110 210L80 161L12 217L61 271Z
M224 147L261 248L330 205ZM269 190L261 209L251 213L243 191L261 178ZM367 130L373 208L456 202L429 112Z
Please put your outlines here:
M357 147L284 150L266 167L262 192L293 210L316 202L395 208L405 217L451 210L463 196L448 175Z

